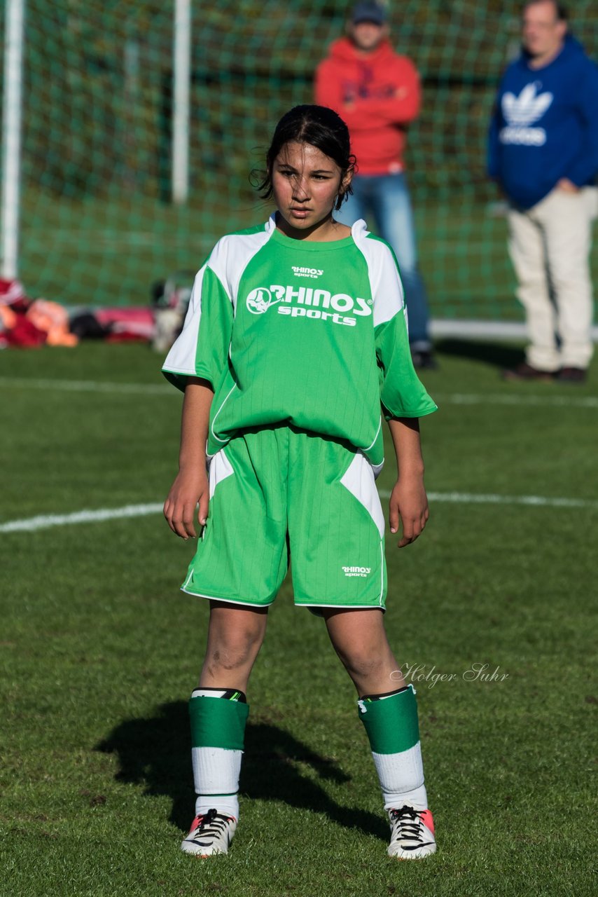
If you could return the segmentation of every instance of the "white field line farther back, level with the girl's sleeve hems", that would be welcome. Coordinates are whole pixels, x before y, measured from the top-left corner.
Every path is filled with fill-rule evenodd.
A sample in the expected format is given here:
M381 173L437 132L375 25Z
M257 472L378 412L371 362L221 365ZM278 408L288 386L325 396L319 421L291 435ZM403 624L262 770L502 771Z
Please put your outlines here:
M56 389L65 392L125 393L131 395L175 396L177 390L167 383L110 383L108 380L39 379L0 377L3 386L23 389ZM598 396L538 396L513 393L438 393L438 402L449 405L545 405L547 407L598 408Z

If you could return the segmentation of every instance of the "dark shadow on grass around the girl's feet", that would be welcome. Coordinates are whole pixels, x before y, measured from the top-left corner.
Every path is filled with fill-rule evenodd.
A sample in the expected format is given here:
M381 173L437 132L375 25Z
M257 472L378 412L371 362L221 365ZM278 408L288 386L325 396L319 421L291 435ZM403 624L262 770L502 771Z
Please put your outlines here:
M127 719L95 750L117 753L118 781L143 785L148 795L168 796L172 800L170 822L184 831L188 829L195 795L185 701L162 704L152 718ZM299 809L325 813L345 828L386 840L386 823L381 816L339 806L317 781L301 774L299 765L310 767L319 779L337 783L351 780L337 762L315 753L282 728L247 722L241 795L281 800Z

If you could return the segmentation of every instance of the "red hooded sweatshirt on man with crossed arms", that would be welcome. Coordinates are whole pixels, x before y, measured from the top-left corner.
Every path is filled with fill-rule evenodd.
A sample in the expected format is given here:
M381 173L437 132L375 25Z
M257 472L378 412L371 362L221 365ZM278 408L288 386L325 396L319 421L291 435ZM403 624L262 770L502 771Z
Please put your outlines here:
M334 41L316 69L316 103L338 112L351 132L360 174L402 171L406 129L420 112L420 77L388 40L368 54Z

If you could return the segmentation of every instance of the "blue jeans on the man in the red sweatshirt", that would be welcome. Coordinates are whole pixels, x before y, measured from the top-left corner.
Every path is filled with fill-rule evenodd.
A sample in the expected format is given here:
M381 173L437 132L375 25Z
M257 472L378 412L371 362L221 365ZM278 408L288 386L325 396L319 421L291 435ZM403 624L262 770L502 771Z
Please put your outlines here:
M380 237L394 249L401 269L409 342L412 349L429 350L428 301L418 268L412 204L405 177L403 174L356 175L352 187L352 196L334 217L351 227L360 218L367 220L368 212L373 214Z

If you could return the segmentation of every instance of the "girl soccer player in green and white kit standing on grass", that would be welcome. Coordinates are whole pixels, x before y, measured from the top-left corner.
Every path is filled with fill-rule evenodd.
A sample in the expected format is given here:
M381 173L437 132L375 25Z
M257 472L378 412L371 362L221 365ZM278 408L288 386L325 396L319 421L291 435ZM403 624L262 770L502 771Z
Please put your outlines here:
M247 681L289 556L295 604L324 617L357 689L389 856L436 849L415 692L397 678L384 629L374 483L384 416L398 468L390 529L402 525L400 548L412 543L428 519L418 418L436 405L413 370L391 249L365 222L334 220L354 167L347 126L331 109L283 116L260 187L277 211L213 248L163 368L185 390L164 514L188 539L197 513L201 537L182 588L210 601L189 703L197 799L182 849L195 856L226 853L237 828Z

